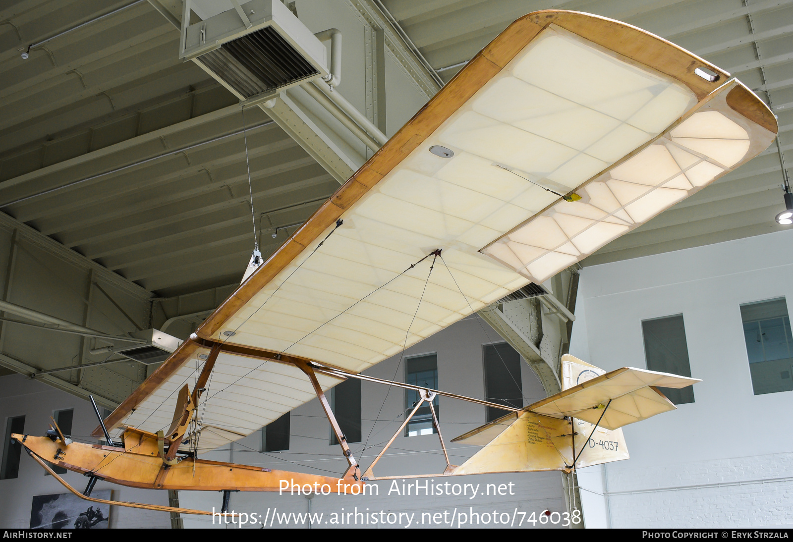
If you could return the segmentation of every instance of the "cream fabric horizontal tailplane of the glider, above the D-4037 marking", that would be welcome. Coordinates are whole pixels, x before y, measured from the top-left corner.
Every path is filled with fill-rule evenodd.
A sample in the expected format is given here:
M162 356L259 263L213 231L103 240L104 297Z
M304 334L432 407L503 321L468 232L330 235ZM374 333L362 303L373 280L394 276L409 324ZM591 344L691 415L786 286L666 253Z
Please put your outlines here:
M599 425L617 429L676 409L657 386L680 388L699 381L668 372L623 367L542 399L527 410L552 418L572 416L590 423L597 423L602 414ZM609 401L611 404L603 413Z

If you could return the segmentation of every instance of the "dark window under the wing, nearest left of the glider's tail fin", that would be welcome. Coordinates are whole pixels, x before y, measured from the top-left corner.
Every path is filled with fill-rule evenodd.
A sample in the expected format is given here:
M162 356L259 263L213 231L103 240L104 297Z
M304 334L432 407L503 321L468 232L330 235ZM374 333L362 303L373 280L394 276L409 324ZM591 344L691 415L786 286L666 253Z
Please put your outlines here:
M485 345L485 399L491 403L523 408L523 383L520 379L520 354L506 342ZM488 422L509 414L488 406Z

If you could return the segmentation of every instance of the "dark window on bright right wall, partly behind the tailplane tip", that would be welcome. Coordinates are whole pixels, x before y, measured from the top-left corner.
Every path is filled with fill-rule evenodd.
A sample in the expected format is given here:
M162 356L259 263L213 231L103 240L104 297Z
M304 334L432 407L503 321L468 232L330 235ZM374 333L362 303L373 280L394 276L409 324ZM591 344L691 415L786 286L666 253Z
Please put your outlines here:
M650 371L691 376L683 315L645 320L642 322L642 333L644 334L647 368ZM658 389L676 405L694 403L693 386L681 389L673 387L659 387Z

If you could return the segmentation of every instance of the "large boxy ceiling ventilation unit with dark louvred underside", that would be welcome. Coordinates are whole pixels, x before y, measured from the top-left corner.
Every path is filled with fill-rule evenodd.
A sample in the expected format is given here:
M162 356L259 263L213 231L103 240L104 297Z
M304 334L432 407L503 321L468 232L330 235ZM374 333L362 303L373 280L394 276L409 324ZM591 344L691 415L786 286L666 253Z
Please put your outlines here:
M190 25L193 3L200 5L184 2L179 57L192 59L240 100L328 74L324 44L280 0L229 0L231 9Z

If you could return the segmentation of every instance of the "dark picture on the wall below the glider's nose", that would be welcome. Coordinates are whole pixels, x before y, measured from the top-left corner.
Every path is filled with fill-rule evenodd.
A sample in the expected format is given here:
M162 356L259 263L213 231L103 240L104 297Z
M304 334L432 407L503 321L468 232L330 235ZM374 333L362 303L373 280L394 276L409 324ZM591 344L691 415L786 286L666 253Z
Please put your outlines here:
M91 497L110 500L110 490ZM108 529L110 505L88 502L71 493L34 495L30 529Z

